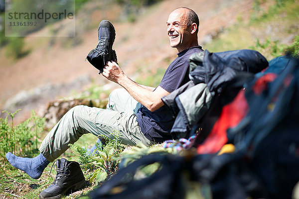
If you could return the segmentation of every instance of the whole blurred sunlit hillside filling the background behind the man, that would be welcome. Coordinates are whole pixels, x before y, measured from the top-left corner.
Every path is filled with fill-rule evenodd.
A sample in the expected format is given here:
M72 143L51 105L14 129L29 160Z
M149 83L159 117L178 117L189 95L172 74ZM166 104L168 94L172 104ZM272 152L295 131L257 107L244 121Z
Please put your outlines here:
M180 6L198 14L199 44L210 52L255 49L271 60L298 48L299 0L76 0L75 37L59 37L72 31L63 20L26 37L5 37L0 0L0 116L2 110L21 108L15 118L20 122L31 109L39 112L58 98L107 98L117 85L85 61L103 19L115 26L113 47L125 73L157 86L177 53L169 46L165 22ZM58 37L36 37L47 31Z

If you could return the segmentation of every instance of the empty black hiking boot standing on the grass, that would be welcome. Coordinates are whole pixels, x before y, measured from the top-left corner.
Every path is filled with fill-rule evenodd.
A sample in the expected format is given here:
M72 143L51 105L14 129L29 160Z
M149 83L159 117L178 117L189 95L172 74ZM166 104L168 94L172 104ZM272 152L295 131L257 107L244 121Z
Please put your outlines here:
M39 199L60 199L66 193L86 186L79 163L61 158L56 161L56 171L53 184L39 194Z

